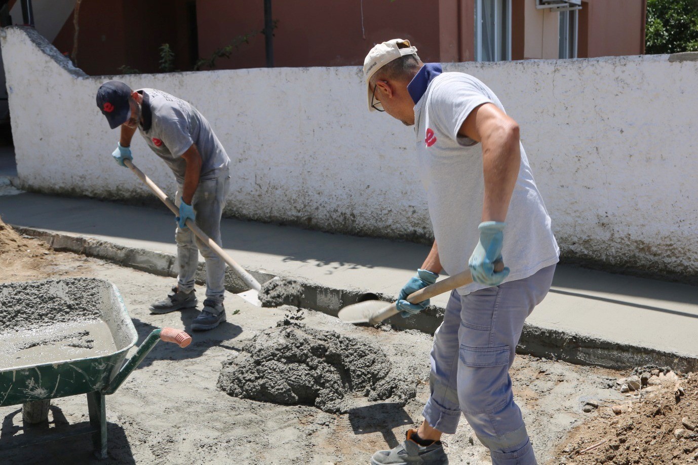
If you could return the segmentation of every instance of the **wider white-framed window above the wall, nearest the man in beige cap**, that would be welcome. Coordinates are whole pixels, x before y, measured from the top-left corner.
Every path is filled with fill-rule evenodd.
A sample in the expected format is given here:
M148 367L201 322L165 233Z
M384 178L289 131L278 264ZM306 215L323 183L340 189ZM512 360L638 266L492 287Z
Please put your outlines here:
M475 61L512 59L512 0L475 0Z

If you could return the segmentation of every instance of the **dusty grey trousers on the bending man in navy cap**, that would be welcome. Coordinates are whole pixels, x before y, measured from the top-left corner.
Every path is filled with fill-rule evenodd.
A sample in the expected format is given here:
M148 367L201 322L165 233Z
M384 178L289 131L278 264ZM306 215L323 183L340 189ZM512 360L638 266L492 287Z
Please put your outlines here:
M199 181L191 206L194 208L196 226L201 228L216 244L221 242L221 216L225 207L225 198L230 186L230 171L223 168L214 179ZM182 186L177 188L177 200L179 207L181 202ZM189 228L177 229L174 232L177 240L177 261L179 262L179 275L177 286L186 293L194 288L196 267L199 263L199 251L206 260L206 298L216 303L223 302L225 295L225 262L216 255L204 242Z

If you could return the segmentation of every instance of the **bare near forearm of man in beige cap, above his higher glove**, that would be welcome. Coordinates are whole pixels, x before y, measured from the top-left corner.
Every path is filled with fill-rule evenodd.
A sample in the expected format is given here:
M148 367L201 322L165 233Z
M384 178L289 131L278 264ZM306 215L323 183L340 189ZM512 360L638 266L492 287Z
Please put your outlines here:
M482 221L505 221L520 166L518 126L501 126L482 139Z

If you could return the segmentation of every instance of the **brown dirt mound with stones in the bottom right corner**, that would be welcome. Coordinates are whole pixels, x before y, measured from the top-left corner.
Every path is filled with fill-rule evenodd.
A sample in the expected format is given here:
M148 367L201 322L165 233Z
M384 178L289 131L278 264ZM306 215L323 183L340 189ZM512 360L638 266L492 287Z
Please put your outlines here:
M618 380L624 404L602 406L556 450L554 464L674 464L698 460L698 376L667 367ZM594 447L597 446L597 447ZM586 451L585 451L586 450Z

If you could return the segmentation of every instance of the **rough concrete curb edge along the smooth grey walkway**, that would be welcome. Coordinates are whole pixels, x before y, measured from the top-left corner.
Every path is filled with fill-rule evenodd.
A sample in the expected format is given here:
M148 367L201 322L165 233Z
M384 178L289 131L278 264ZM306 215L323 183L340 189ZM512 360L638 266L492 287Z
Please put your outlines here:
M131 267L159 276L177 277L177 257L170 253L149 251L133 247L125 247L112 242L107 242L80 235L59 233L37 228L25 228L13 226L17 232L24 235L43 239L57 251L70 251L84 256L100 258L117 265ZM265 283L276 274L268 270L248 268L255 279ZM339 310L350 304L362 302L366 299L391 301L392 295L371 293L366 290L328 288L318 283L307 281L300 276L290 276L290 279L298 281L304 289L304 295L299 307L322 311L331 316L336 316ZM196 276L197 283L204 283L204 263L199 263ZM241 279L231 270L226 270L225 288L232 293L240 293L247 290ZM394 317L387 320L403 330L419 330L429 334L436 331L443 319L443 307L431 306L426 311L413 318L403 319ZM681 372L698 370L698 356L682 353L669 353L655 348L623 344L607 341L597 337L578 334L545 327L526 324L519 340L518 353L546 357L554 360L563 360L574 364L595 365L611 369L628 369L646 364L669 366Z

